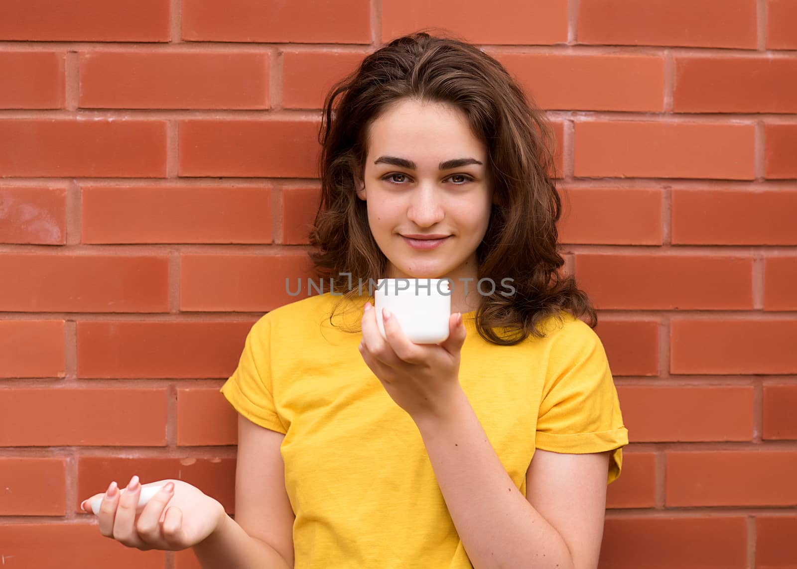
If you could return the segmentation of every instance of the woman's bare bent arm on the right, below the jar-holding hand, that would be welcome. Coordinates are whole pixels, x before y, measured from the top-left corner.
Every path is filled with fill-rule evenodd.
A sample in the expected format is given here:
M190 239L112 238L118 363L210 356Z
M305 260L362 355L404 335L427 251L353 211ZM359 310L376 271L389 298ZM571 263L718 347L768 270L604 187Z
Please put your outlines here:
M561 521L557 529L516 488L465 393L459 390L445 409L445 415L428 414L416 418L415 423L473 567L597 567L606 508L607 453L536 451L529 475L535 460L545 462L544 476L551 481L544 485L546 507L558 508L559 512L570 510L572 514L558 516ZM579 477L589 482L579 483ZM575 484L559 483L563 480ZM596 484L603 488L595 491ZM529 498L530 492L532 485L528 484ZM567 532L570 547L562 532ZM571 551L575 548L578 551ZM576 565L573 555L585 564Z

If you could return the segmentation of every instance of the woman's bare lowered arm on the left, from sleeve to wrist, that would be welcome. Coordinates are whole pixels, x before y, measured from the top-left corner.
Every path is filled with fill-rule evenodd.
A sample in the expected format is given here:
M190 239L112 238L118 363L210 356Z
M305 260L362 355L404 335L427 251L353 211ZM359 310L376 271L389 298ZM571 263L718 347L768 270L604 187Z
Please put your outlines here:
M238 414L235 520L194 546L202 569L293 567L293 509L285 490L284 434Z

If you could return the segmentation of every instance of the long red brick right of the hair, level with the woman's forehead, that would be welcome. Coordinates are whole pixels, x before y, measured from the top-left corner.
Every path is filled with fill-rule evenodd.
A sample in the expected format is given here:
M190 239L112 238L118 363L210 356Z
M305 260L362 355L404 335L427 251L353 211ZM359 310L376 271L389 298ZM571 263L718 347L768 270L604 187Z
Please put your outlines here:
M752 124L661 121L575 123L579 177L755 177Z

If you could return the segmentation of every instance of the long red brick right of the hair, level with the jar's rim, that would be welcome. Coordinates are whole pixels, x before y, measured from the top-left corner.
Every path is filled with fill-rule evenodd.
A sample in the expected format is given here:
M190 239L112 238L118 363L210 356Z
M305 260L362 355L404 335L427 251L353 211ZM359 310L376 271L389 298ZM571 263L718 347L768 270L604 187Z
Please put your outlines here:
M752 259L717 255L576 254L595 308L749 310Z

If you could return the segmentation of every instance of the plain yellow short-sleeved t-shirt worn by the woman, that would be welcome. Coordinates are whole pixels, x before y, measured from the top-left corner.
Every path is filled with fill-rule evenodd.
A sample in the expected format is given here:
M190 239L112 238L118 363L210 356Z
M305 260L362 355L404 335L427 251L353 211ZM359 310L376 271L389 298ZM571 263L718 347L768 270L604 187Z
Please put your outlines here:
M418 427L363 361L362 334L330 324L338 300L327 292L262 316L221 389L245 418L285 434L295 567L472 567ZM366 300L347 302L332 321L359 325ZM497 346L478 335L472 312L463 315L461 387L524 496L535 448L614 449L609 484L628 444L599 337L562 316L547 321L544 339Z

